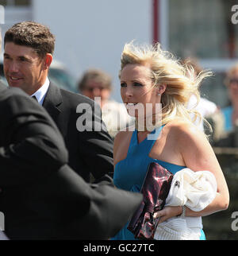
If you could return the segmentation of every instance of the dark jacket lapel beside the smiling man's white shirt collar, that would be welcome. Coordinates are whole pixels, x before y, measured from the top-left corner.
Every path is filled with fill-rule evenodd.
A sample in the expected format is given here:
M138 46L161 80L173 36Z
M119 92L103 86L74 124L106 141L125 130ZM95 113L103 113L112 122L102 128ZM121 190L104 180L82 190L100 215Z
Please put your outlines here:
M48 91L44 98L43 107L48 111L48 114L50 114L54 120L56 120L57 116L61 112L61 104L62 95L60 92L60 88L53 83L50 83Z

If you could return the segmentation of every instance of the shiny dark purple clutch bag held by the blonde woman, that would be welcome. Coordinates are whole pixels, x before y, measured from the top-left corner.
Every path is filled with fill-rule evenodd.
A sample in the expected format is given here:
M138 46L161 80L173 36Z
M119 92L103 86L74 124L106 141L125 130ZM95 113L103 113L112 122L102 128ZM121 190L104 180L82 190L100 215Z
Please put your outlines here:
M173 174L158 163L148 165L144 184L140 190L143 201L127 227L136 239L154 239L159 219L154 219L155 211L162 210L171 188Z

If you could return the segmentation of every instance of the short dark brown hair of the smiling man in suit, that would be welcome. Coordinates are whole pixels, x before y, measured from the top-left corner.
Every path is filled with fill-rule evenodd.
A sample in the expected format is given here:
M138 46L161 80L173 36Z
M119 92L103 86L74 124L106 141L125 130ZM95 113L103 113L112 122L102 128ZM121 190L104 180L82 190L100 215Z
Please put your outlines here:
M5 33L4 46L8 42L15 45L29 46L40 57L46 53L53 54L55 49L55 37L47 26L33 21L23 21L13 25Z

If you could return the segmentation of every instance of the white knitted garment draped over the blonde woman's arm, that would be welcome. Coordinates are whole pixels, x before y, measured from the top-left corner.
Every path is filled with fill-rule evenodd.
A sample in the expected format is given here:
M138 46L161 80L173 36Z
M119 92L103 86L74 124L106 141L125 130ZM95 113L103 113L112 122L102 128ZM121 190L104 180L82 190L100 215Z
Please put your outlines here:
M175 173L166 206L186 205L192 211L202 211L215 198L217 181L209 171L193 172L186 168ZM200 239L202 217L173 217L160 223L155 231L156 240Z

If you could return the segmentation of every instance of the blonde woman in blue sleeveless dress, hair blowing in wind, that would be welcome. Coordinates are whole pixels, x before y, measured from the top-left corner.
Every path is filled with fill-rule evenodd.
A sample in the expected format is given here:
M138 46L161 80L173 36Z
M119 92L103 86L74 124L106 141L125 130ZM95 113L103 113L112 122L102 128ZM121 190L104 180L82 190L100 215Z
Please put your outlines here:
M121 131L114 141L114 184L118 188L139 192L152 161L171 173L184 168L213 173L217 196L204 210L195 212L177 206L155 213L159 223L181 214L199 217L200 239L205 239L201 217L227 209L229 202L225 177L213 149L205 134L190 119L193 110L186 108L190 95L197 95L199 99L199 84L207 76L209 72L195 76L192 68L182 66L159 45L126 44L121 55L121 98L129 114L136 117L136 130ZM151 116L155 117L155 105L159 103L162 104L162 119L160 122L153 119L155 129L151 131L146 125L144 130L139 129L141 123L146 124L146 107L152 106ZM144 112L138 111L139 105L144 107ZM198 115L196 111L194 114ZM113 239L134 239L134 236L125 226Z

